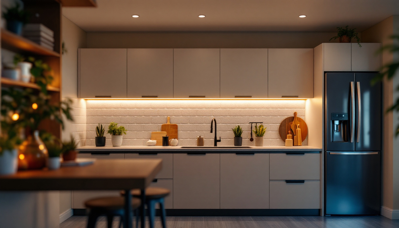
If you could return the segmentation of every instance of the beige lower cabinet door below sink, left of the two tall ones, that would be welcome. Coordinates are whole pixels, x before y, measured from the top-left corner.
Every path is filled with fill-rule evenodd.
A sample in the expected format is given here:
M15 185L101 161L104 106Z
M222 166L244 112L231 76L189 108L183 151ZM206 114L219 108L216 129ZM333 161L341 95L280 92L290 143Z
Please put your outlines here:
M173 155L173 208L220 208L220 155Z

